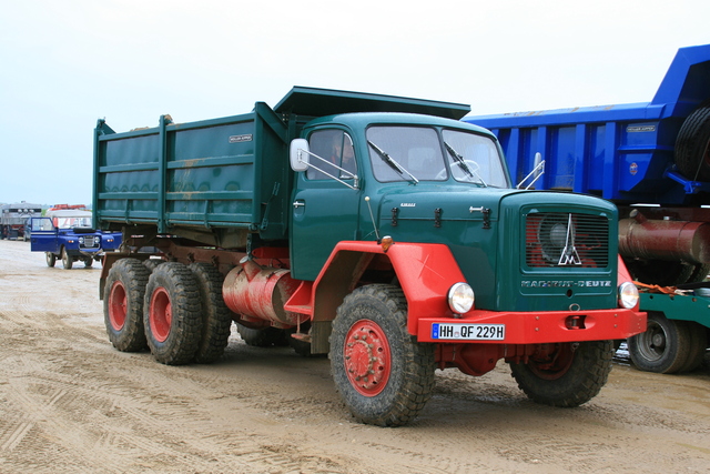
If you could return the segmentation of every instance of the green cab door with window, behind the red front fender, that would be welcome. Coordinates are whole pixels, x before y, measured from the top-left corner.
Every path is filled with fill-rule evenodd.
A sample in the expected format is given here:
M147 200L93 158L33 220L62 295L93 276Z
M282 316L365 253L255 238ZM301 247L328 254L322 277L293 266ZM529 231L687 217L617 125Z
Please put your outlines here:
M335 245L358 240L361 191L349 134L320 129L308 137L308 169L296 174L292 201L291 273L314 281Z

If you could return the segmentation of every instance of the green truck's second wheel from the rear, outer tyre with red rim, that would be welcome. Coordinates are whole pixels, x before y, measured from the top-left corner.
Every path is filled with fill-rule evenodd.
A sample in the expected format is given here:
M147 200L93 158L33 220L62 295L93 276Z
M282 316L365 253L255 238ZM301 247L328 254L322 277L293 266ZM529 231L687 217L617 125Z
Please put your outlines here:
M151 273L143 324L148 346L158 362L182 365L194 360L202 332L201 307L197 281L187 266L169 262Z

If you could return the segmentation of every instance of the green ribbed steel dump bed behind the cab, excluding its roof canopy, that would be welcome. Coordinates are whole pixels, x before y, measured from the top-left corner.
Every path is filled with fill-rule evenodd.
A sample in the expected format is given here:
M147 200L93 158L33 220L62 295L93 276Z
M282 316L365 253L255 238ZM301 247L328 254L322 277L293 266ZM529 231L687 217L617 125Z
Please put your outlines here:
M158 128L125 133L100 120L95 222L101 229L151 224L162 234L217 234L224 242L211 243L224 246L242 246L246 232L282 239L287 143L286 125L264 103L252 113L192 123L163 115Z

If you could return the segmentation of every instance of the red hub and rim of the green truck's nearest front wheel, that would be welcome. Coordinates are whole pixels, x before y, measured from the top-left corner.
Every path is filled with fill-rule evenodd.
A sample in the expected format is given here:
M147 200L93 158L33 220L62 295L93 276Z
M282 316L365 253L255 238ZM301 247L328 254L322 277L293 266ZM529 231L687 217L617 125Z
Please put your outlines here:
M389 380L389 342L375 322L361 320L351 326L343 347L345 373L357 393L379 394Z

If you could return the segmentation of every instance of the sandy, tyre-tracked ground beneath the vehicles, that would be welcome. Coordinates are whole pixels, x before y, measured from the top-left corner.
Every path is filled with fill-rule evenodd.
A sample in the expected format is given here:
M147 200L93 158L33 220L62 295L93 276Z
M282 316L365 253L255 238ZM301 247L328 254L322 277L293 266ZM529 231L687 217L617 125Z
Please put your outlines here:
M1 473L707 473L710 369L643 373L617 357L578 409L528 401L503 363L437 371L408 426L354 423L327 359L255 349L165 366L108 341L100 265L48 268L0 241Z

